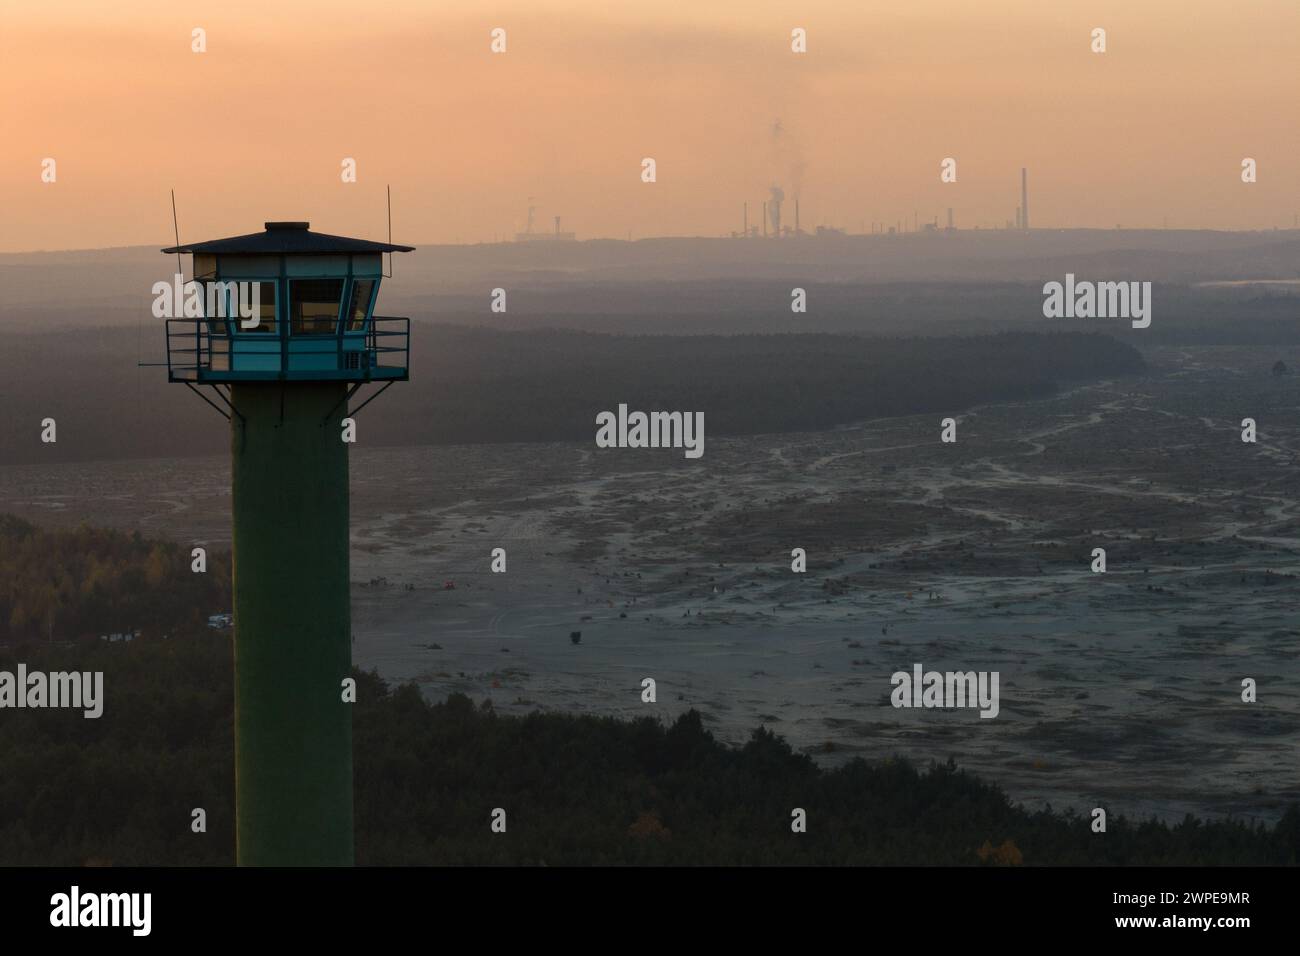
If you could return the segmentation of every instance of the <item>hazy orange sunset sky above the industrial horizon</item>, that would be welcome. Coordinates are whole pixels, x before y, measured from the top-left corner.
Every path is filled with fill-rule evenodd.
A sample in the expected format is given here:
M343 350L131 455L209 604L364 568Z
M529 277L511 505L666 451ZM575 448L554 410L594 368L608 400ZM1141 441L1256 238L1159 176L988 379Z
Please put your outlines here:
M378 238L385 183L412 243L510 235L529 196L578 238L718 235L745 199L757 222L774 183L805 228L949 206L987 226L1014 216L1022 165L1036 226L1300 211L1296 0L17 5L0 5L0 251L169 243L172 187L182 239L268 219Z

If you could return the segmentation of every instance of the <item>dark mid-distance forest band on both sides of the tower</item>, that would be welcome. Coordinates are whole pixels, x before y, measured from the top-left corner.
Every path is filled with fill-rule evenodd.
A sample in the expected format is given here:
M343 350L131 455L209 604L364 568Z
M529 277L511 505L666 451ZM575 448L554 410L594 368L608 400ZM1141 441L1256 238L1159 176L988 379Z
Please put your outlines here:
M164 369L136 367L159 358L161 336L150 326L0 339L0 381L14 386L0 463L229 449L216 412L168 385ZM416 323L411 338L411 381L363 412L367 444L593 441L595 415L620 402L703 411L710 436L809 431L956 414L1144 368L1135 349L1098 333L610 336ZM40 441L46 418L57 421L55 444Z

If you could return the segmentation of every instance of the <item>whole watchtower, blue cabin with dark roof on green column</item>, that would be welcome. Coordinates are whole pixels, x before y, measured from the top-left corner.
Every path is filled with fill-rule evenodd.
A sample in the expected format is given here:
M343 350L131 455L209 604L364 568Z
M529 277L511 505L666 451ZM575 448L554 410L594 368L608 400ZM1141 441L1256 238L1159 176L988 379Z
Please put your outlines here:
M230 420L240 865L354 861L342 424L410 377L410 320L374 303L382 255L411 248L266 222L162 250L194 256L199 307L166 321L168 380Z

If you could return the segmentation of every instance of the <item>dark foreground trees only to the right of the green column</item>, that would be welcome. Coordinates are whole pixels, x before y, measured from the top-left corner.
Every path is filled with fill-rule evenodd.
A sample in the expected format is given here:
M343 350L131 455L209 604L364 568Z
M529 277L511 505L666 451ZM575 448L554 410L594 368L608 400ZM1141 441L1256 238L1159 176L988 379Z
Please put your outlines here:
M771 731L718 743L692 710L664 726L562 714L500 717L454 695L367 683L356 711L364 864L992 865L1286 864L1300 808L1275 827L1167 826L1030 812L952 761L858 758L824 770ZM363 757L364 754L364 757ZM510 830L489 831L491 808ZM807 831L790 829L792 810ZM373 816L372 816L373 814Z

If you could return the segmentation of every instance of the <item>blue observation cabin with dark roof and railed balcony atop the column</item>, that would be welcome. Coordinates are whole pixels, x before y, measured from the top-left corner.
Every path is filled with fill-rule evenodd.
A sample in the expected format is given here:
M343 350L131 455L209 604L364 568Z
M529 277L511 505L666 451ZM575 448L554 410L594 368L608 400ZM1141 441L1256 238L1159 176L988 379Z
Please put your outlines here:
M162 250L194 256L203 293L202 317L166 320L168 381L407 381L411 320L377 316L374 303L384 254L412 247L309 226L266 222Z

